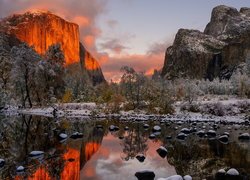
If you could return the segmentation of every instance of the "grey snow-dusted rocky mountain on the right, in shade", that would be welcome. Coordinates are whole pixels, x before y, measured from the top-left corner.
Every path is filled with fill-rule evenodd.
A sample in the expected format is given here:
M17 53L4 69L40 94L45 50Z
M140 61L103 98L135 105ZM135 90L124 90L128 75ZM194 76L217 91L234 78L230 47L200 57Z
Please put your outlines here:
M166 50L162 76L230 78L250 53L250 8L213 9L204 32L180 29Z

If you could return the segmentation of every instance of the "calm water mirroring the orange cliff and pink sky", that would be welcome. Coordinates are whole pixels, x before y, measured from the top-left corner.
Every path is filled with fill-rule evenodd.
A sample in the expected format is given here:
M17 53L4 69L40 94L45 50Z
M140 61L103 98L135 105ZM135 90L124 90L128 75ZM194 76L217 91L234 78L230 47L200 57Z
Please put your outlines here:
M196 133L186 140L176 139L184 127L197 130L213 129L210 123L160 123L122 122L115 120L53 119L38 116L0 117L0 158L5 165L0 168L1 179L86 179L112 180L136 179L134 174L151 170L158 177L190 174L194 179L213 179L221 168L236 168L246 178L250 177L250 142L238 141L238 135L250 131L249 125L219 124L217 136L228 132L228 143L216 138L200 138ZM110 132L116 125L118 131ZM155 139L149 139L154 125L161 127ZM97 128L97 127L102 128ZM125 130L127 127L128 130ZM72 139L74 132L82 137ZM60 133L68 138L59 139ZM172 136L172 139L167 139ZM168 149L166 158L158 155L160 146ZM34 150L44 155L29 157ZM143 154L144 162L136 156ZM23 172L17 172L23 166Z

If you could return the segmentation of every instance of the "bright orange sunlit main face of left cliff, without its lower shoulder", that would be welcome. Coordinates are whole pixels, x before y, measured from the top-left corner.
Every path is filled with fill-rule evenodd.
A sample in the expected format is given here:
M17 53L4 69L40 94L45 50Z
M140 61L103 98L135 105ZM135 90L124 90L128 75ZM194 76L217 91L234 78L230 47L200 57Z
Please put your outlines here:
M5 19L8 33L34 46L44 54L52 44L60 43L65 54L66 64L79 61L79 27L49 13L25 13Z

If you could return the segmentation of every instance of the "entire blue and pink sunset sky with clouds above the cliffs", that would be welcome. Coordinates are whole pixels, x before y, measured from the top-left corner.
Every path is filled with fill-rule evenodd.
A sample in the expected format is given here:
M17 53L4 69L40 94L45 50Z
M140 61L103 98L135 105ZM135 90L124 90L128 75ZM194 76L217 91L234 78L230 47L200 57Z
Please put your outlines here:
M117 81L128 65L145 74L161 69L178 29L203 31L217 5L250 7L249 0L0 0L0 18L49 10L80 26L80 40Z

